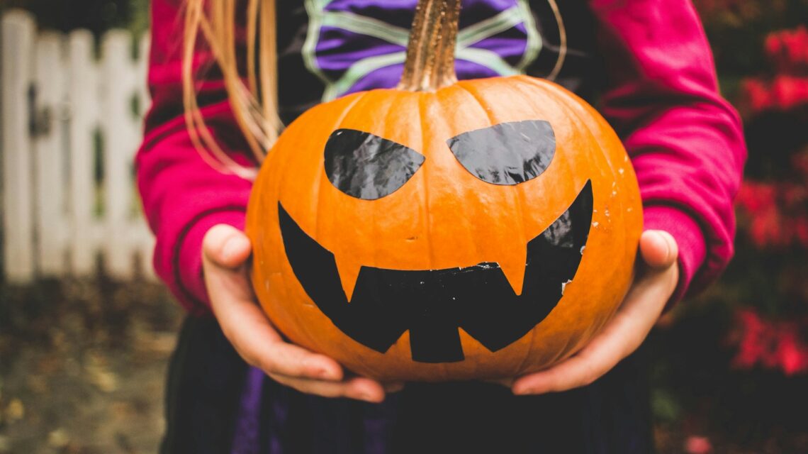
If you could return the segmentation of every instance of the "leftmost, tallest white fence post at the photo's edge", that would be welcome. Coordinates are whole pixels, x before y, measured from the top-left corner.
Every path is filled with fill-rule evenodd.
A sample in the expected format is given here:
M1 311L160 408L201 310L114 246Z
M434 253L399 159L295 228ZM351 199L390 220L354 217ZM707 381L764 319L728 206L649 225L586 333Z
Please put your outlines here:
M33 182L28 95L35 23L23 11L2 17L2 219L4 265L9 282L34 277Z

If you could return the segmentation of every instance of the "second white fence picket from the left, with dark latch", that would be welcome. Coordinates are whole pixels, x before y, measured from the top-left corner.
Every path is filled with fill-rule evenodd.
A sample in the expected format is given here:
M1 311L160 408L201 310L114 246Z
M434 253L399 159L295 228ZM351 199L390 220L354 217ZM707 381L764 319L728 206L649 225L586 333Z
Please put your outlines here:
M39 271L59 276L65 271L65 76L63 37L44 32L36 40L36 233Z

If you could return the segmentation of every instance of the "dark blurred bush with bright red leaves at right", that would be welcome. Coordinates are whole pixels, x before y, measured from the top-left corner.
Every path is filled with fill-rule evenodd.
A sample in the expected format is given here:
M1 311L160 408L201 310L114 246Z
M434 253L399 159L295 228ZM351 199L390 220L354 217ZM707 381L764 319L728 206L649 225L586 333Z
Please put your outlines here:
M717 452L806 452L808 0L695 3L749 155L733 261L649 339L654 414Z

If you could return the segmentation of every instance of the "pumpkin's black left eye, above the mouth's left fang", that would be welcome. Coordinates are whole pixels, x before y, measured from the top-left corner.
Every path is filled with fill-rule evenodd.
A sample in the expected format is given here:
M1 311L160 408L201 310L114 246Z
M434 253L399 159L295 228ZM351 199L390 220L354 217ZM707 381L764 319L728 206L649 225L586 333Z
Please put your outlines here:
M377 200L401 188L423 155L400 143L356 129L337 129L326 142L326 176L351 197Z

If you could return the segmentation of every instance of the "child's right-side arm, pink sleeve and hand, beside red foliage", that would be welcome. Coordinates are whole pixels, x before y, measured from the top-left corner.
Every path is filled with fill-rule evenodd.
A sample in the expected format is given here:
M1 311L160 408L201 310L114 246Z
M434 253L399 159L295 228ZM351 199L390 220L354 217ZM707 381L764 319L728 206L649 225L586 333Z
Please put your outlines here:
M603 376L642 344L666 303L711 282L733 252L732 199L746 148L692 4L591 0L591 8L609 71L601 112L621 134L642 191L644 263L604 330L572 358L516 380L522 394Z

